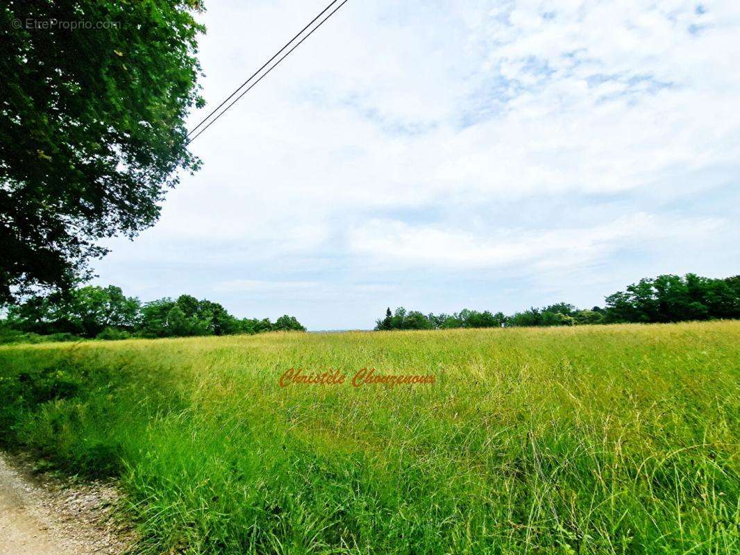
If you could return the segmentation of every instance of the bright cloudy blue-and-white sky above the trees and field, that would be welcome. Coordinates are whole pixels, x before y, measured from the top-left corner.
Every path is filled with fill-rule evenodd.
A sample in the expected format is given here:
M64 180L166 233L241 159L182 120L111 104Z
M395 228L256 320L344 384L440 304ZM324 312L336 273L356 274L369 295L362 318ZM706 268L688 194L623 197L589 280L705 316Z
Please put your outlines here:
M206 108L327 0L206 2ZM736 0L349 0L95 283L370 329L740 273Z

